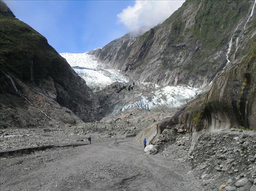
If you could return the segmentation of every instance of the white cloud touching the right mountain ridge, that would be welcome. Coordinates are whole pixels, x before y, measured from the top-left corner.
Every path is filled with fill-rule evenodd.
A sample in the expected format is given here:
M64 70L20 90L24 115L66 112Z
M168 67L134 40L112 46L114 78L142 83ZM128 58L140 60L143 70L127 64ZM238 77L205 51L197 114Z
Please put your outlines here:
M117 16L130 32L146 30L162 23L176 11L185 0L136 0Z

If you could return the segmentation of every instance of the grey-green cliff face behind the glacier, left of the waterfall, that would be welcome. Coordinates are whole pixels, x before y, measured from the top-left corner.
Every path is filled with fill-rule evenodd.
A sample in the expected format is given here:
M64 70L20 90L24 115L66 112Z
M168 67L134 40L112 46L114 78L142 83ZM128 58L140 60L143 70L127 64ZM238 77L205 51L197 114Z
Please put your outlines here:
M143 35L125 35L91 54L132 80L204 87L226 65L230 39L239 35L253 3L186 1Z

